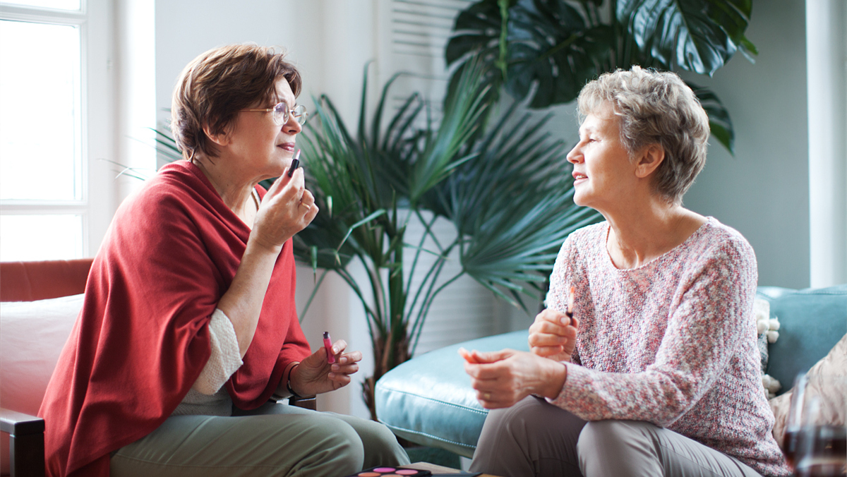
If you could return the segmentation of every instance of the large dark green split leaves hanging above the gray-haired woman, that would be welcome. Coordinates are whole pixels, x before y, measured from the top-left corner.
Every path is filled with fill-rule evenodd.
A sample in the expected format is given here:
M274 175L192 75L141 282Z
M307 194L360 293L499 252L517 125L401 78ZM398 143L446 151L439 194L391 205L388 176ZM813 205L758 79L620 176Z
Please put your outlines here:
M482 0L458 15L447 64L462 75L481 61L493 87L529 97L530 108L573 101L585 82L633 64L712 75L740 51L751 0ZM451 86L455 87L455 86ZM711 132L734 152L734 130L714 92L695 87Z

